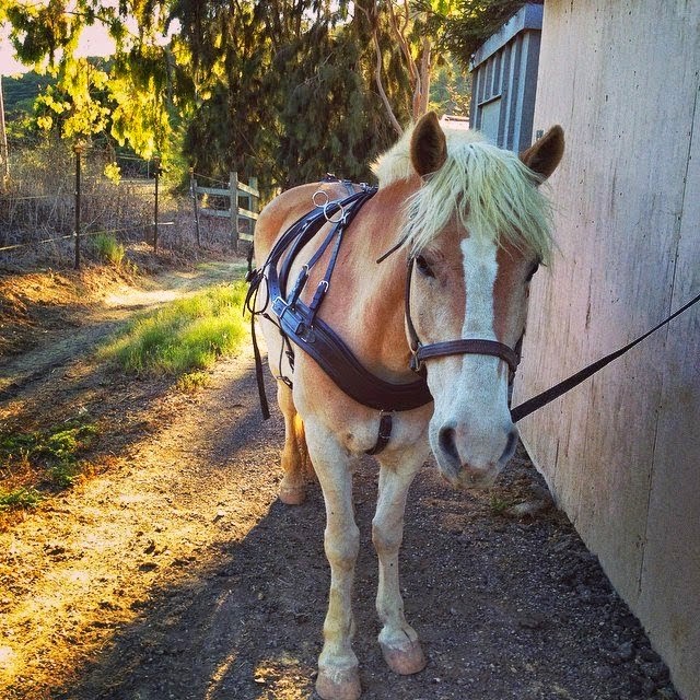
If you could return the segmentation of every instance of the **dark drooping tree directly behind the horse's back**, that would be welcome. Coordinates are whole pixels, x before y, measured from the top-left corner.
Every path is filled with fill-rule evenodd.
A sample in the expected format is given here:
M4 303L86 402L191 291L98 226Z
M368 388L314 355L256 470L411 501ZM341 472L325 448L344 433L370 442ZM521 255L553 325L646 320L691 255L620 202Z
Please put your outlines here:
M218 168L233 164L260 174L264 187L331 168L369 178L368 163L393 137L373 84L374 30L365 15L350 13L347 2L311 0L236 8L185 0L174 15L191 56L197 98L186 147L197 166L223 178ZM407 81L402 72L393 78L400 105ZM399 114L407 116L400 106Z

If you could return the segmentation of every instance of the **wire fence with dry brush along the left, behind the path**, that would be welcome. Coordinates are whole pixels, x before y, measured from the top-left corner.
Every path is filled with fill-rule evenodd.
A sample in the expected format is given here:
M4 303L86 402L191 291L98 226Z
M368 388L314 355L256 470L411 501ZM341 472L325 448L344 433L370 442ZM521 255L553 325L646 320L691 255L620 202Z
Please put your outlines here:
M115 172L115 163L118 180L105 174ZM235 206L236 211L229 221L200 217L208 195L202 197L192 188L195 175L207 185L231 186L190 170L189 192L177 196L171 194L172 183L163 187L158 159L61 144L27 150L15 158L12 178L0 191L0 268L31 266L33 260L66 265L71 258L79 268L83 254L97 255L96 236L101 235L145 243L155 253L168 248L196 255L200 247L229 249L234 243L237 249L238 198L230 199L235 203L229 207ZM250 230L250 222L242 225L246 233Z

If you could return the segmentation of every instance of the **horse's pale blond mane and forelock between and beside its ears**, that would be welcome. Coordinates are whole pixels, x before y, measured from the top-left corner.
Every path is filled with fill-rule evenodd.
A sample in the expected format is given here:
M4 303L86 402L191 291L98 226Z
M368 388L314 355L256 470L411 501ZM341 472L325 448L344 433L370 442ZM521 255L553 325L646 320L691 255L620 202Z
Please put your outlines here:
M477 131L444 129L445 164L425 178L407 201L400 237L413 252L427 246L455 217L471 237L530 248L547 264L551 257L551 206L538 176L516 153L504 151ZM373 165L380 187L415 176L411 130Z

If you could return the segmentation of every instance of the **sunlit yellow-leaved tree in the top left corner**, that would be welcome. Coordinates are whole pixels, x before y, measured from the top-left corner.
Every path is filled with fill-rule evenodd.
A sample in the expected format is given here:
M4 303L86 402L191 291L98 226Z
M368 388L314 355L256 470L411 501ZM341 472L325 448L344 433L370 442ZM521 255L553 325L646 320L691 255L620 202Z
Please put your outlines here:
M10 0L0 15L11 24L18 58L48 71L55 85L36 102L37 125L62 138L90 139L109 132L144 158L161 150L167 160L172 136L166 83L166 49L159 5L144 0ZM136 19L136 33L129 31ZM75 56L85 26L100 22L115 39L116 59L97 63Z

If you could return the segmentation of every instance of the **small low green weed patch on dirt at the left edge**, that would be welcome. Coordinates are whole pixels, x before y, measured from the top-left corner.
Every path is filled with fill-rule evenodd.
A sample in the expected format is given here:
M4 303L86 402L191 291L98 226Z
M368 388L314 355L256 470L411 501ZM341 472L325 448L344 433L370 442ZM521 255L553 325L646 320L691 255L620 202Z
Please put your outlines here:
M43 471L45 481L59 489L73 483L82 470L81 455L97 435L95 425L71 420L32 433L0 434L2 471L18 467ZM0 492L0 509L35 505L40 495L33 489Z

